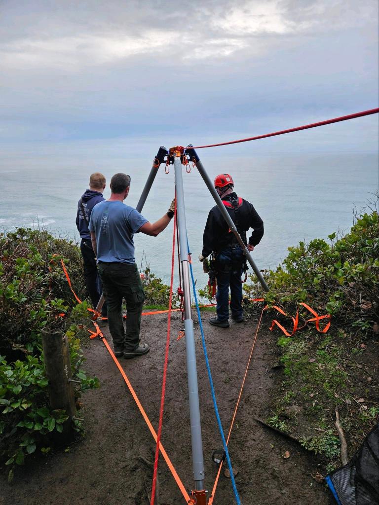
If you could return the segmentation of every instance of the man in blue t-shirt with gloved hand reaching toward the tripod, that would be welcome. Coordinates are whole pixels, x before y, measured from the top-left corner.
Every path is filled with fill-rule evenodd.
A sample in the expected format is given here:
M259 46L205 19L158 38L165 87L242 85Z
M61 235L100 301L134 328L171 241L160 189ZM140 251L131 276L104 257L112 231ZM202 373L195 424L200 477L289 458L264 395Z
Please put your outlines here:
M93 208L88 228L107 300L115 356L134 358L146 354L149 345L139 341L145 292L135 264L133 236L137 232L154 237L161 233L174 215L175 199L168 212L152 224L136 209L123 204L130 189L128 175L115 174L110 187L109 200ZM126 331L121 312L123 298L127 310Z

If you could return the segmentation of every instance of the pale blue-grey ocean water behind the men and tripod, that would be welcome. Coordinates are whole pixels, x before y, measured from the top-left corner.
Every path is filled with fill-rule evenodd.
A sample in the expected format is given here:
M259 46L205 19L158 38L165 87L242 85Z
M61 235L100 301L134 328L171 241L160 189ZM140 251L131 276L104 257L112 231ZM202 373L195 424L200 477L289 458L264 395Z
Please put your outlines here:
M203 155L203 153L202 153ZM260 269L275 268L287 255L288 246L300 240L327 238L336 230L348 231L354 206L360 210L378 191L378 155L282 154L251 158L202 156L213 179L218 173L232 174L235 191L253 203L265 226L253 258ZM53 166L52 166L53 165ZM104 166L104 165L103 165ZM149 160L109 162L101 171L109 181L113 173L131 176L131 189L125 203L135 206L151 168ZM78 240L75 226L77 201L87 188L91 172L98 167L71 160L52 164L50 160L20 160L0 167L3 183L0 201L0 227L45 226L56 235ZM213 199L196 169L183 169L188 241L194 255L198 286L207 282L197 257ZM174 170L165 174L161 166L143 214L154 222L168 209L174 196ZM134 237L138 266L151 269L166 282L170 276L172 224L158 237ZM59 251L57 251L59 252ZM176 282L176 281L175 281Z

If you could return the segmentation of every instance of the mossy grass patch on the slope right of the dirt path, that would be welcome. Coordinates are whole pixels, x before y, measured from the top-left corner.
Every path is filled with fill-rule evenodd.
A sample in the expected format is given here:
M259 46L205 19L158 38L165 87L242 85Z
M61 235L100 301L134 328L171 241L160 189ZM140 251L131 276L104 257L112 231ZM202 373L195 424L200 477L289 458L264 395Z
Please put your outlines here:
M359 349L359 354L352 349ZM284 368L270 406L274 416L267 414L266 422L321 456L325 473L341 465L336 406L349 456L379 418L379 382L374 374L378 350L378 342L361 332L335 330L324 336L307 331L277 339Z

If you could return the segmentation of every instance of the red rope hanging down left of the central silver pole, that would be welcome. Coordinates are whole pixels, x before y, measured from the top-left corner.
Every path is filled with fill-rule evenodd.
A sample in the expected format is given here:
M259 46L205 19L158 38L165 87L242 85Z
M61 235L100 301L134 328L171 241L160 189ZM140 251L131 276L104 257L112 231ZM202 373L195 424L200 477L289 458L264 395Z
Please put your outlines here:
M170 347L172 286L173 286L173 281L174 281L175 235L176 235L176 199L175 199L175 209L174 209L174 232L173 232L173 235L172 235L171 281L170 281L170 297L169 297L169 301L168 301L166 354L165 354L165 362L164 362L164 366L163 366L161 409L160 409L160 412L159 412L157 445L156 445L156 448L155 448L154 473L153 473L153 484L152 484L150 505L154 505L154 500L155 500L155 490L156 490L156 486L157 486L157 473L158 473L159 444L160 444L160 441L161 441L162 422L163 422L163 409L164 409L165 393L166 393L166 376L167 376L167 365L168 365L168 351L169 351L169 347Z

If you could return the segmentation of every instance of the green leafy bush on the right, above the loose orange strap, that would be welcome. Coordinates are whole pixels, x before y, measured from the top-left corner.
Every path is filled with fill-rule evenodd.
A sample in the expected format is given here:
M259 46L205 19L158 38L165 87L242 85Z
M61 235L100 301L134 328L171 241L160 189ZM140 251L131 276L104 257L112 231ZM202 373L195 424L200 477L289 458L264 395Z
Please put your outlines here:
M268 293L256 278L245 284L248 297L261 295L269 305L295 310L304 301L319 313L335 316L363 330L377 320L379 299L379 221L376 211L357 217L350 233L314 239L289 247L289 255L275 271L265 273ZM294 306L294 307L291 307Z

